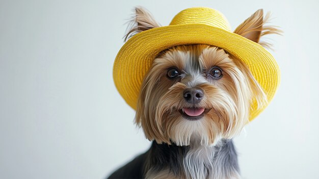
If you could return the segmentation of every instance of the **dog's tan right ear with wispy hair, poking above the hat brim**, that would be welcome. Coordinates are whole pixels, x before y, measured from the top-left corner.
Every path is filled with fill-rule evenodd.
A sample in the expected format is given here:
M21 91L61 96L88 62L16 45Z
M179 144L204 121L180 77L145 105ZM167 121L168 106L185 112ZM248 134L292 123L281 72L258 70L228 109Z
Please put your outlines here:
M252 40L256 43L259 43L262 46L271 47L270 43L259 41L260 37L268 34L281 34L282 31L277 29L278 27L264 25L268 22L269 18L269 12L263 18L263 10L259 9L248 19L246 19L242 24L240 24L235 29L234 33L246 37L247 39Z

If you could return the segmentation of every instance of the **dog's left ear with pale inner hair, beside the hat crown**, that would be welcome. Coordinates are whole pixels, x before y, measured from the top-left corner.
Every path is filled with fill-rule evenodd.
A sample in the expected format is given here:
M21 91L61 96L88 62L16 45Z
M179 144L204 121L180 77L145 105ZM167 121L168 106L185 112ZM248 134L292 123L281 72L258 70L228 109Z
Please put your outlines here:
M154 17L145 8L136 7L135 15L130 20L128 32L124 36L124 41L128 40L139 32L158 27L161 27L161 25L156 22Z

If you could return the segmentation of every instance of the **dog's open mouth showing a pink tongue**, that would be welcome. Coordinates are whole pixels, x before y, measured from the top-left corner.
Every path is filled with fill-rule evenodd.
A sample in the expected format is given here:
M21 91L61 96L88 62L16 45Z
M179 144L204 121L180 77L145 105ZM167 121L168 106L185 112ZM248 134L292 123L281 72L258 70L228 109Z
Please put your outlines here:
M188 120L199 120L201 119L204 114L206 114L210 109L205 108L182 108L178 110L180 114Z

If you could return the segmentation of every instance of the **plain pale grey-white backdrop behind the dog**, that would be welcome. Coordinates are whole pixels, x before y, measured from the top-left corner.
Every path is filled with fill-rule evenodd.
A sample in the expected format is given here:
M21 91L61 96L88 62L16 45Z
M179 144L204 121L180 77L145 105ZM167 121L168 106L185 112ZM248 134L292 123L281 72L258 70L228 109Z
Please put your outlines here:
M281 86L235 138L242 176L319 178L319 3L288 0L0 0L0 178L103 178L150 146L112 78L135 6L162 25L215 8L232 30L271 11Z

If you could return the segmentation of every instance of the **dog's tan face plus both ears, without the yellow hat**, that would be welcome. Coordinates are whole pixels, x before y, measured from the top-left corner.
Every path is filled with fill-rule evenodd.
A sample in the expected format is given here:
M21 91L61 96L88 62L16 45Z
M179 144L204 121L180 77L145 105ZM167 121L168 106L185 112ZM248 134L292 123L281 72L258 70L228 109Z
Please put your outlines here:
M137 8L136 13L136 27L126 38L159 26L145 10ZM259 42L261 31L276 33L262 28L264 23L259 10L235 33ZM240 60L215 46L175 46L161 52L146 74L136 123L157 143L214 145L241 132L254 99L258 105L267 100Z

